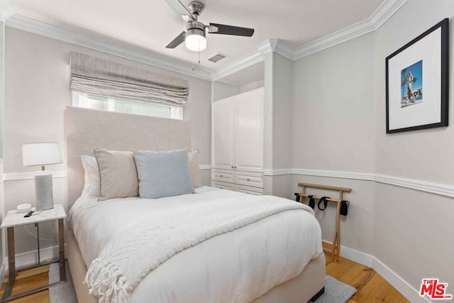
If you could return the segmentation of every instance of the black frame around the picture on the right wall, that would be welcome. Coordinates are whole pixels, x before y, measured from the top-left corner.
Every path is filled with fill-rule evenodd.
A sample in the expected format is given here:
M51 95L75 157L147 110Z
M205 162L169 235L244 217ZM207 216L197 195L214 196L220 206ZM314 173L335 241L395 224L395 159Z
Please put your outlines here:
M401 54L402 52L411 52L411 46L414 45L416 42L419 42L420 40L423 40L426 38L429 34L433 33L434 31L438 30L438 28L441 28L441 38L440 38L440 43L441 43L441 83L440 89L441 89L441 106L440 106L440 121L436 123L423 123L420 125L414 125L414 126L408 126L408 127L403 127L403 128L393 128L389 129L389 102L391 97L389 96L389 64L390 60L395 57L396 55ZM415 63L416 65L416 63ZM413 65L409 66L408 68L413 67ZM413 76L411 75L411 72L409 73L409 76L412 78L407 81L407 76L405 73L406 68L404 68L401 71L401 86L404 86L403 83L410 83L414 79ZM404 79L402 79L402 72L404 72L405 76ZM404 131L416 131L420 129L426 129L426 128L436 128L436 127L443 127L443 126L448 126L448 93L449 93L449 19L445 18L443 21L437 23L435 26L432 28L429 28L427 31L419 35L418 37L414 38L414 40L411 40L409 43L404 45L402 48L399 48L399 50L396 50L394 53L386 57L386 132L387 133L400 133ZM409 78L409 77L408 77ZM421 78L422 78L422 60L421 60ZM415 83L415 82L414 82ZM422 79L421 79L422 83ZM410 87L410 84L406 84L407 87ZM411 97L413 98L413 104L408 104L408 105L414 105L417 104L415 97L419 95L419 92L416 92L416 94L413 92L411 87L408 89L409 92L407 93L402 93L399 95L399 99L401 101L401 108L403 108L406 105L402 105L402 102L404 102L404 99L408 99L409 103L411 102ZM422 92L422 87L420 89L421 92L421 103L423 101L423 92ZM411 93L410 93L411 92ZM406 95L407 97L403 97L403 95ZM395 96L393 96L395 97ZM393 99L395 100L395 98ZM438 100L433 100L433 102L438 102Z

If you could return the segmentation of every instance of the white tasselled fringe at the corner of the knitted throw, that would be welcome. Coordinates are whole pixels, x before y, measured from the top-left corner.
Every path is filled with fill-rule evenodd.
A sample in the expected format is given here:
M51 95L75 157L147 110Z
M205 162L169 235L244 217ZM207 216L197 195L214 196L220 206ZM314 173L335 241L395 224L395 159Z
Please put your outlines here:
M98 297L100 303L129 302L131 287L126 285L125 277L112 263L100 258L93 260L84 283L88 285L89 293Z

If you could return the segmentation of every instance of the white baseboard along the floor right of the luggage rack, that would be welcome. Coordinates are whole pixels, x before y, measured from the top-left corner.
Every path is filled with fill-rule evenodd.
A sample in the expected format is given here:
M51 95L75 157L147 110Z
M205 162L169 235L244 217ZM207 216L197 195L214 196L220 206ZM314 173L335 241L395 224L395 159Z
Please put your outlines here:
M326 242L330 243L328 241ZM341 257L348 260L352 260L356 263L360 263L367 267L373 268L375 272L381 275L384 278L384 280L387 280L387 282L390 285L392 285L392 287L394 287L401 294L403 294L404 297L406 297L406 299L408 299L410 302L414 303L431 302L428 299L426 299L426 297L421 297L419 295L418 290L415 290L414 287L409 285L408 282L402 279L402 277L397 275L396 272L392 271L390 268L387 267L387 265L384 265L382 261L378 260L373 255L362 253L359 250L355 250L353 248L341 246Z

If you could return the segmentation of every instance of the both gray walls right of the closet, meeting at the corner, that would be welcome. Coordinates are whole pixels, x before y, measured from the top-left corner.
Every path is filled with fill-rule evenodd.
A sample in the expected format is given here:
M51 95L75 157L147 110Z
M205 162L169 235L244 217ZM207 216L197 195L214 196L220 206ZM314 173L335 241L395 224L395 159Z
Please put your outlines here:
M453 15L451 0L409 0L374 33L295 61L292 168L454 184L453 126L387 135L384 82L385 57ZM295 191L301 181L353 188L346 196L352 201L348 218L341 222L343 246L374 255L416 290L423 277L454 285L454 199L373 181L302 175L292 180ZM323 238L331 241L328 214L318 218Z

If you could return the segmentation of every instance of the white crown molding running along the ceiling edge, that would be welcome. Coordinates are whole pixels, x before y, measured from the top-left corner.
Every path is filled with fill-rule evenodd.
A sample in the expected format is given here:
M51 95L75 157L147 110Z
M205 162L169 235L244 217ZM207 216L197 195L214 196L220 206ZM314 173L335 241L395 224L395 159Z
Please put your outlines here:
M343 43L347 40L357 38L360 35L365 35L372 31L376 31L384 22L386 22L397 10L399 10L408 0L385 0L378 9L372 13L372 15L358 23L343 28L340 31L326 35L323 38L315 40L306 45L302 45L299 48L292 48L280 39L268 39L257 45L257 50L238 60L235 60L228 65L225 65L214 72L207 70L192 70L192 67L185 67L177 62L169 60L162 60L150 55L143 55L129 51L125 48L119 48L115 45L100 43L98 40L89 38L72 31L68 31L57 26L52 26L48 23L36 21L31 18L27 18L19 15L12 15L11 6L9 6L9 0L0 0L0 18L1 20L6 19L6 26L17 28L22 31L28 31L38 35L43 35L48 38L61 40L67 43L80 45L85 48L91 48L93 50L99 50L103 53L109 53L118 57L124 57L129 60L144 63L146 65L152 65L160 67L165 70L171 70L173 72L179 72L183 75L205 79L209 81L217 81L235 72L255 65L265 60L265 55L268 53L278 53L286 57L289 60L298 60L301 57L314 54L320 50L330 48L333 45ZM9 17L9 18L8 18Z

